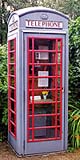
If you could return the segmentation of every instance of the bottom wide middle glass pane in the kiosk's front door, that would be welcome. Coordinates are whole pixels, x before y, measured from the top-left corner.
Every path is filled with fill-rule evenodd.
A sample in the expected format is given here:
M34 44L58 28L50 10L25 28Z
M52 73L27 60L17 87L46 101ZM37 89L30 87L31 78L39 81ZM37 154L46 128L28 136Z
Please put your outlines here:
M39 129L34 131L35 139L55 138L55 128Z

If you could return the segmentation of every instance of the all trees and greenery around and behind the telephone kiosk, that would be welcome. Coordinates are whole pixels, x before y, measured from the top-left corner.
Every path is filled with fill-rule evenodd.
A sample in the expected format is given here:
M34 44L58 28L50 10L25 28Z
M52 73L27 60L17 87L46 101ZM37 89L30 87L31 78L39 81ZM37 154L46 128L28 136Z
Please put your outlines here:
M80 0L0 0L0 141L7 138L7 20L16 9L45 6L69 21L69 146L80 147Z

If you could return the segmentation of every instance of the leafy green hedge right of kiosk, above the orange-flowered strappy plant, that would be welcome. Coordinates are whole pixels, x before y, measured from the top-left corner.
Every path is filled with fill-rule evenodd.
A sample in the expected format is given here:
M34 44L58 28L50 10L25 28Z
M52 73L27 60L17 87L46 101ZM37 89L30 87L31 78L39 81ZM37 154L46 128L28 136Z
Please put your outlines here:
M80 99L80 17L69 27L69 90L74 100Z

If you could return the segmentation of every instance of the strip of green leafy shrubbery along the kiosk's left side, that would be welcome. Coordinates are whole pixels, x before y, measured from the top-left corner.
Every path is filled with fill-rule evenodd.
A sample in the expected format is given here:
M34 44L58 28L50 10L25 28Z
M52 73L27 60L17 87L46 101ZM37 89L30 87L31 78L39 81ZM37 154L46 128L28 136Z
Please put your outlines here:
M0 47L0 138L7 129L7 46Z

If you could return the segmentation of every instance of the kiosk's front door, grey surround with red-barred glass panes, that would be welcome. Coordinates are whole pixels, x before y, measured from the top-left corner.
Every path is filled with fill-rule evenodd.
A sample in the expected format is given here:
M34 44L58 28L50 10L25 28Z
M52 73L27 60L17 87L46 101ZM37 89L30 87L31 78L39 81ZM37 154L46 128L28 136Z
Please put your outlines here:
M25 152L63 150L64 35L25 34Z

